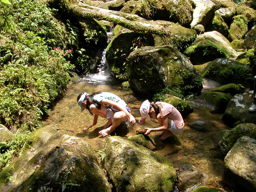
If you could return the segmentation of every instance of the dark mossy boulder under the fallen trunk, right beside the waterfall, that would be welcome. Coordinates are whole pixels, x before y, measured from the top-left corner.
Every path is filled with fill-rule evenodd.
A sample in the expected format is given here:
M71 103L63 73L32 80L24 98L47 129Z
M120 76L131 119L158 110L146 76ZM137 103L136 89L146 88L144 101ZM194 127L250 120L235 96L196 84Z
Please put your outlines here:
M185 49L186 46L192 44L196 37L196 31L187 29L183 26L167 22L156 21L160 25L169 28L172 33L167 37L160 35L141 34L131 30L116 26L113 33L115 36L109 43L106 51L106 59L110 66L110 70L116 78L128 80L126 73L126 58L128 55L141 47L145 46L162 46L175 45L179 49Z

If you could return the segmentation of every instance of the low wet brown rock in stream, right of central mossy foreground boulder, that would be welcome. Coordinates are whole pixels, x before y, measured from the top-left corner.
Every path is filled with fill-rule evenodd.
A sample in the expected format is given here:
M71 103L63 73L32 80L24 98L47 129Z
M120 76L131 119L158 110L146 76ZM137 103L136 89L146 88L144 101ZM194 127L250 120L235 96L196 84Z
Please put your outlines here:
M201 171L189 164L181 163L180 172L178 173L178 188L181 191L200 185L204 181L204 175Z

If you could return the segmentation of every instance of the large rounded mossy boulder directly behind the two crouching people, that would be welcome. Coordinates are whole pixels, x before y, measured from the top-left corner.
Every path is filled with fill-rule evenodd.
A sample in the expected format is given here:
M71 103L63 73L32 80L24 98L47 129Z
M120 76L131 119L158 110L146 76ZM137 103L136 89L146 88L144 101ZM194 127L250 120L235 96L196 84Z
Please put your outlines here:
M199 93L202 79L188 58L175 47L143 47L127 58L126 73L131 90L141 98L150 98L164 87L184 95Z

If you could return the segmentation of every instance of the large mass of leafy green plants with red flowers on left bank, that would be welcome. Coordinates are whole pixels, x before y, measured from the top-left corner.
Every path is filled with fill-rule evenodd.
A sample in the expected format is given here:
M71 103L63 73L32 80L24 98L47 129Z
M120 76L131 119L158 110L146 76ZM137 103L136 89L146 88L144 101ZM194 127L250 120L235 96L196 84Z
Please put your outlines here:
M66 88L73 49L61 47L77 46L77 30L56 20L56 10L42 0L13 0L5 9L8 14L0 9L0 18L6 17L0 20L0 123L32 131Z

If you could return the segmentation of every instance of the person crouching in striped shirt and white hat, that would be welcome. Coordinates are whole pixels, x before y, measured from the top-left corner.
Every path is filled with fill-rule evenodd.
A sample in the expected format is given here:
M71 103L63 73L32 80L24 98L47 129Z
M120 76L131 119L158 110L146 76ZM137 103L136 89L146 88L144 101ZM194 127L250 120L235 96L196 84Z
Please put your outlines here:
M161 136L161 140L165 140L173 134L180 134L183 131L184 121L180 112L171 104L166 102L156 102L150 104L148 100L145 100L140 106L140 114L142 118L139 120L140 124L143 124L145 119L156 117L161 127L158 128L145 128L148 135L151 131L162 131L158 136Z

